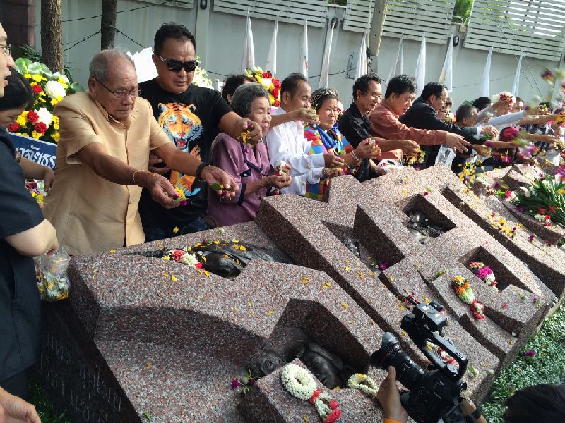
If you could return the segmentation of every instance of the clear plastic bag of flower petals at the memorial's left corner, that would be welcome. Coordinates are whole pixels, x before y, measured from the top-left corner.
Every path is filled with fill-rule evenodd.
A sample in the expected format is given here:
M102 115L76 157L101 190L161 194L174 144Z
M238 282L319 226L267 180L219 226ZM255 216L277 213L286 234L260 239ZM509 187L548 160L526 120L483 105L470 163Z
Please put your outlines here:
M64 300L69 296L69 276L66 269L71 257L61 248L54 255L35 257L37 289L44 301Z

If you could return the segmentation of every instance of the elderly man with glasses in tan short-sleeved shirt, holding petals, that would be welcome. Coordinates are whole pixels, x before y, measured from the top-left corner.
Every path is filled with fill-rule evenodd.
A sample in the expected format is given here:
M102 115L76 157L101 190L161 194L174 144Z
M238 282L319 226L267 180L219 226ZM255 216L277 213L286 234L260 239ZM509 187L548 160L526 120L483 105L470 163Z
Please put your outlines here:
M71 255L143 243L137 211L142 187L164 207L180 204L173 200L169 180L147 171L150 151L176 171L237 188L220 168L174 147L149 102L138 94L131 59L105 50L90 63L88 92L55 106L61 136L44 215ZM233 197L234 191L227 196Z

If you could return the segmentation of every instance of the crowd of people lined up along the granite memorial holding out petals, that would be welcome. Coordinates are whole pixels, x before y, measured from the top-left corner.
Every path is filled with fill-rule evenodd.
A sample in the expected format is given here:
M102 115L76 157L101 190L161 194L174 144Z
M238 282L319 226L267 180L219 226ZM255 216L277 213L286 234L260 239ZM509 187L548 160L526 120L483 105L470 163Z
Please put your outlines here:
M482 97L463 104L450 121L446 87L430 82L416 99L407 75L387 81L384 96L377 75L362 75L343 111L338 92L312 92L304 75L291 73L272 111L266 88L245 75L228 77L221 94L192 84L196 39L168 23L155 34L156 78L138 84L129 56L100 51L90 62L88 90L55 106L53 172L18 157L4 130L33 94L12 69L10 48L0 27L0 386L15 395L0 390L0 417L9 413L8 401L38 421L17 399L27 396L40 350L34 256L59 247L92 254L253 221L268 195L323 200L332 178L347 173L363 182L418 157L415 166L433 166L441 146L456 154L456 172L486 154L487 140L494 165L508 166L501 157L520 159L516 147L496 138L509 126L539 125L528 139L545 147L557 140L557 133L539 133L557 115L524 111L509 93L494 103ZM25 178L45 180L43 210Z

